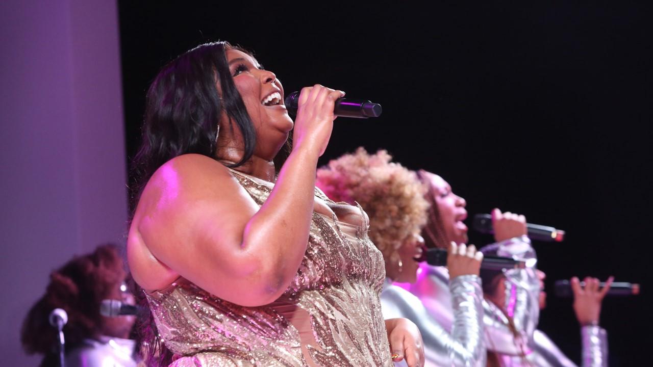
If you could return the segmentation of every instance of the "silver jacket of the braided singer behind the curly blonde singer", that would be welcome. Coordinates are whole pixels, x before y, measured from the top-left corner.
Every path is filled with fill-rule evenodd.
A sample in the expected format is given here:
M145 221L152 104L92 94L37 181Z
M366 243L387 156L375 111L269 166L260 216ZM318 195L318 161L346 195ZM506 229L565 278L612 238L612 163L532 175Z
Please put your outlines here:
M511 238L484 247L485 253L526 260L525 269L504 272L506 281L505 310L513 317L517 335L509 327L500 308L483 300L483 327L487 349L505 355L528 355L533 333L539 319L539 281L535 274L537 257L526 236ZM449 291L449 272L442 266L422 264L422 272L409 291L422 301L428 313L445 330L452 330L453 310ZM419 324L418 324L419 325ZM426 345L426 344L425 344ZM428 345L426 346L428 348ZM426 349L426 348L425 348ZM428 352L427 352L428 353Z

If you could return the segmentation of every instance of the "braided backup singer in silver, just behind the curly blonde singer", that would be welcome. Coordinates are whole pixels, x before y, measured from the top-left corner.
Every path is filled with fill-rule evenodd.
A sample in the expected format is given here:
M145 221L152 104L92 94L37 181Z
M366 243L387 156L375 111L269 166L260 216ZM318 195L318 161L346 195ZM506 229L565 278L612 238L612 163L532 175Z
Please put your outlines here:
M447 248L451 242L464 244L468 241L467 202L454 194L451 185L437 174L419 170L420 180L428 192L430 202L428 223L422 234L427 247ZM486 249L485 255L497 255L526 260L526 268L510 269L504 272L506 292L511 295L503 307L483 300L483 327L485 345L490 355L501 353L523 357L531 353L530 345L539 319L540 284L535 274L537 257L526 236L524 215L492 211L495 244ZM422 264L422 274L409 291L417 296L426 309L443 325L445 330L454 327L454 313L451 312L450 274L441 266ZM503 310L506 310L505 312ZM428 354L428 350L425 351ZM490 362L490 360L488 360Z

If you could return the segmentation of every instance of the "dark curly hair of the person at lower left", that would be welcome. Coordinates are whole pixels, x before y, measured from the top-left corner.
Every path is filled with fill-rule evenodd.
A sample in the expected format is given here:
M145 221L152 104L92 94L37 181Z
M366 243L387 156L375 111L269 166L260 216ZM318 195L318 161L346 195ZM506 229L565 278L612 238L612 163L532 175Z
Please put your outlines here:
M126 276L123 259L114 244L99 246L54 270L45 295L27 312L23 322L20 340L25 352L44 355L41 366L58 363L52 349L57 336L48 322L50 311L55 308L68 313L68 323L63 327L68 350L86 338L99 336L103 326L100 303Z

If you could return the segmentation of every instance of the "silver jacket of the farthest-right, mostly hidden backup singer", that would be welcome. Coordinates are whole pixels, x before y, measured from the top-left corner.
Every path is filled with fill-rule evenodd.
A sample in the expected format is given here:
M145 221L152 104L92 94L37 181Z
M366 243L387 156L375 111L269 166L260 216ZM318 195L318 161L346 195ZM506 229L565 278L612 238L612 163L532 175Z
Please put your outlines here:
M533 353L526 356L525 362L515 356L500 356L502 366L537 366L537 367L577 367L558 349L547 334L540 330L534 333ZM607 367L608 343L607 332L597 326L581 328L582 367Z

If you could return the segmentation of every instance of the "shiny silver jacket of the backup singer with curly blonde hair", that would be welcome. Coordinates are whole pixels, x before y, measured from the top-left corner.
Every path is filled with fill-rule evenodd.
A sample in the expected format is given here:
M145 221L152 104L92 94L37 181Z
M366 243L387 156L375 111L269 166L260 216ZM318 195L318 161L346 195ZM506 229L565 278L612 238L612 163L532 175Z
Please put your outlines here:
M421 300L406 289L386 281L381 293L381 311L385 319L406 317L422 334L425 366L485 366L483 343L483 289L481 278L458 276L448 285L453 325L447 330L432 317ZM451 333L449 332L451 330Z

